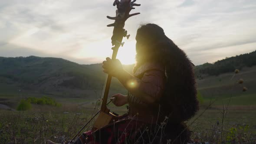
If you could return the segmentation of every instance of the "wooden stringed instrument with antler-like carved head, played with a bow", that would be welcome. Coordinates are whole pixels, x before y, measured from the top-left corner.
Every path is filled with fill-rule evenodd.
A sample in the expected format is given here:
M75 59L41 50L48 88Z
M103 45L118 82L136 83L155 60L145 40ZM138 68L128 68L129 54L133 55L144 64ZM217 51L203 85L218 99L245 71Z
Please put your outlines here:
M129 39L130 35L127 35L127 31L124 29L125 21L131 17L138 15L140 13L133 13L129 14L131 10L135 9L134 6L140 6L140 4L135 3L136 0L115 0L113 3L113 6L117 7L116 10L116 16L111 17L107 16L110 20L115 20L115 23L107 25L108 27L113 26L113 35L112 35L112 59L116 59L118 49L120 46L123 46L124 43L122 43L123 37L126 37ZM110 110L107 108L107 100L108 100L108 92L111 84L111 75L107 75L106 82L105 82L105 88L103 89L102 93L102 104L101 109L99 111L99 116L96 119L92 130L97 130L99 128L104 127L107 124L112 123L113 120L117 120L117 116L110 112Z

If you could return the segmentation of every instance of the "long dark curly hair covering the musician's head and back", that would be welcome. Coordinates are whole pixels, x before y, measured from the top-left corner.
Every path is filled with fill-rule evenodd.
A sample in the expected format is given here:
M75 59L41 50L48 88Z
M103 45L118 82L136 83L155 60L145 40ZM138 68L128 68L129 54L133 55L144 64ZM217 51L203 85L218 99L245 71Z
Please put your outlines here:
M136 36L136 65L159 62L165 66L166 84L160 98L161 113L172 122L186 121L199 110L194 65L186 53L156 24L141 25Z

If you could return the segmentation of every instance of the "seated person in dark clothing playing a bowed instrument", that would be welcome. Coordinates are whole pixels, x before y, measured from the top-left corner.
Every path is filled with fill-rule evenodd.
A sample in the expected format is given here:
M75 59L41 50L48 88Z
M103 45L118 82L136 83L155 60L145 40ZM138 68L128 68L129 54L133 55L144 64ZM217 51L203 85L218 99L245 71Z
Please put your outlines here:
M105 73L117 78L128 95L116 94L116 106L129 105L127 115L95 132L87 131L76 144L187 143L184 121L198 111L193 64L156 24L140 26L136 35L133 75L118 59L106 58Z

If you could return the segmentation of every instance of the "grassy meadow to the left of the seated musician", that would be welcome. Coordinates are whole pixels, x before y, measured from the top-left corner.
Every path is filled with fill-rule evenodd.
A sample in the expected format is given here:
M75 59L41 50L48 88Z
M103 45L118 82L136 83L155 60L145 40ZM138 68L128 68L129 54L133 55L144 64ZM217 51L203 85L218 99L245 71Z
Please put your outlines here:
M15 99L15 100L14 100ZM45 143L47 139L67 141L98 111L98 99L56 98L61 107L32 105L29 111L9 111L0 109L0 144L7 143ZM11 102L10 102L11 100ZM9 102L8 102L9 101ZM15 108L16 98L0 97L0 104ZM119 114L125 107L113 108ZM94 108L95 107L95 108ZM85 128L87 131L91 128Z

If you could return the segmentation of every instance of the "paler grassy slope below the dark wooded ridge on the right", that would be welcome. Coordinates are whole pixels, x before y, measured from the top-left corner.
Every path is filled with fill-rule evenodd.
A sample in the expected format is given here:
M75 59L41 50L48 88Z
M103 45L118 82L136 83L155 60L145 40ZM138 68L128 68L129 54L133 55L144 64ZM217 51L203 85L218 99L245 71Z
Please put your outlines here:
M234 72L218 76L207 76L197 80L198 90L204 98L229 98L245 95L243 87L248 88L246 94L256 95L256 66L244 68L238 74ZM238 81L242 79L243 83Z

